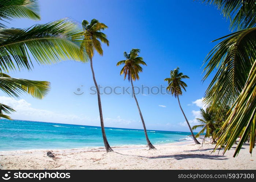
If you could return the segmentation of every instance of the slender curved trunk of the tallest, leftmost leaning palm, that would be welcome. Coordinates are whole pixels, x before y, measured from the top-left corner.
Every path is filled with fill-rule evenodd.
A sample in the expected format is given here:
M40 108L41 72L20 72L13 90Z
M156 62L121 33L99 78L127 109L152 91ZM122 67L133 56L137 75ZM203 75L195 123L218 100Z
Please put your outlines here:
M98 96L98 106L99 106L99 118L101 119L101 132L102 132L102 137L103 137L103 142L105 145L105 149L107 152L112 152L113 150L109 146L106 133L105 133L105 128L104 128L104 121L103 121L103 115L102 115L102 108L101 108L101 96L99 93L99 87L95 79L94 71L93 71L93 59L90 58L90 63L91 63L91 72L93 73L93 81L97 90L97 96Z

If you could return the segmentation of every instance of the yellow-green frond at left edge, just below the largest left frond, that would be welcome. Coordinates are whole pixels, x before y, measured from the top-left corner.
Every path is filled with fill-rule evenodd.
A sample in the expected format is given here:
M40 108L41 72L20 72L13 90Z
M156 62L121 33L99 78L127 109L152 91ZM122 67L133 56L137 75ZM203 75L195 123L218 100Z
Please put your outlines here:
M9 75L0 74L0 90L11 97L19 97L22 93L28 93L34 98L42 99L50 90L50 83L20 78L11 78Z

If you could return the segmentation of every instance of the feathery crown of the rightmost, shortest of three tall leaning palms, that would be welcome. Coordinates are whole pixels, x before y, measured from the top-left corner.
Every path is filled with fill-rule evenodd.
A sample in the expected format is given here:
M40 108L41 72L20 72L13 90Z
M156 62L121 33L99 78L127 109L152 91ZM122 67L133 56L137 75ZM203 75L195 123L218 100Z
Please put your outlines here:
M170 78L166 78L165 81L168 82L168 86L166 88L172 95L175 97L178 95L182 95L183 88L186 91L187 84L183 82L181 79L189 78L187 75L183 75L183 73L179 72L180 68L177 67L174 70L170 71Z

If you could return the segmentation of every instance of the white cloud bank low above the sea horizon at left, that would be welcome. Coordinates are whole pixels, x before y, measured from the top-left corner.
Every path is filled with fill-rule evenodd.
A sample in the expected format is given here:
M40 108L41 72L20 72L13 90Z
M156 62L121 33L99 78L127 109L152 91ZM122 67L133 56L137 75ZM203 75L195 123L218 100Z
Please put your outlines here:
M16 112L11 114L13 119L100 126L99 116L98 118L90 118L84 115L62 114L37 109L33 108L25 99L15 100L5 96L0 96L0 103L11 106L16 110ZM117 118L104 118L104 120L106 126L109 127L118 127L124 124L127 125L133 122L138 122L136 120L122 119L120 116L117 116Z

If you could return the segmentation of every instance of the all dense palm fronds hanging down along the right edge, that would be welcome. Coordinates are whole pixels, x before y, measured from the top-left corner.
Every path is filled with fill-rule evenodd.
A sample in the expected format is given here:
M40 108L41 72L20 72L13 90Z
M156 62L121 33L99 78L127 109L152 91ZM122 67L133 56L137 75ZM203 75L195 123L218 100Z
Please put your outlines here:
M204 61L203 80L216 70L204 102L219 111L230 107L228 117L218 132L215 150L218 146L226 145L225 153L242 132L235 157L251 132L249 152L252 153L256 133L256 3L250 0L206 0L206 3L215 5L230 19L231 30L237 29L237 32L217 39L224 40L210 51ZM228 140L227 135L230 135Z

